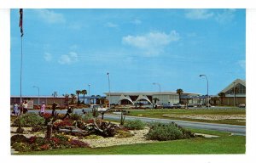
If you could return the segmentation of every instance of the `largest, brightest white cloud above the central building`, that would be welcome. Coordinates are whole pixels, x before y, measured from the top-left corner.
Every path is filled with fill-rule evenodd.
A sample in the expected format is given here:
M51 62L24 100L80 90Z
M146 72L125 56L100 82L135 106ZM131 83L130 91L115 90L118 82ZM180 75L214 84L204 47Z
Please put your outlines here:
M163 52L164 48L171 42L177 42L180 39L177 31L171 31L169 34L165 32L149 32L142 36L126 36L122 42L135 48L139 48L148 55L157 55Z

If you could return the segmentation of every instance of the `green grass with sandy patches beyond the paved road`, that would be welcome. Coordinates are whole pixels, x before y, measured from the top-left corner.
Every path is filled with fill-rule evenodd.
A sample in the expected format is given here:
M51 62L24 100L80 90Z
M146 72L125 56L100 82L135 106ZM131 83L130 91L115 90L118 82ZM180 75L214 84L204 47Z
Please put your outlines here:
M172 117L165 117L163 115L173 115ZM219 124L230 124L230 125L241 125L245 126L245 122L237 120L201 120L201 119L191 119L191 118L181 118L175 115L246 115L245 110L130 110L128 115L131 116L143 116L150 118L162 118L162 119L172 119L172 120L183 120L183 121L201 121L209 123L219 123Z

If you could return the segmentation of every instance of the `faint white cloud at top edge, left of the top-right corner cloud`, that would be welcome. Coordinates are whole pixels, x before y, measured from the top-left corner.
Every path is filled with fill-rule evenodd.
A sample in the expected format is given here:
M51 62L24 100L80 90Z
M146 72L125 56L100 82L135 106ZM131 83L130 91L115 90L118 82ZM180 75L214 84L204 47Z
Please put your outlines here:
M207 20L214 14L209 12L208 9L188 9L185 12L185 16L191 20Z

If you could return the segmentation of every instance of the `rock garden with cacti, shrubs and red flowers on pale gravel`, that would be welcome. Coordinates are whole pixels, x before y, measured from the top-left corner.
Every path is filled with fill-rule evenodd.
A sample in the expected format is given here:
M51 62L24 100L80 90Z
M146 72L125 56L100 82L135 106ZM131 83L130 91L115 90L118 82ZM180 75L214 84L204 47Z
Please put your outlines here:
M93 116L95 115L95 116ZM194 138L195 133L175 123L105 121L96 114L51 115L26 113L11 117L11 147L15 151L98 148L131 143Z

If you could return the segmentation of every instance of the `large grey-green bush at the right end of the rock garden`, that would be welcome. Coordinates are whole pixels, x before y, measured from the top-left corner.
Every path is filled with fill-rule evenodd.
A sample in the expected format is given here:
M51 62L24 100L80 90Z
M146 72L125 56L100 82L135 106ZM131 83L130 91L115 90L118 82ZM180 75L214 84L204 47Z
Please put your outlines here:
M154 123L150 126L149 132L146 134L146 139L166 141L189 138L187 135L183 134L181 129L183 128L177 126L175 123Z

